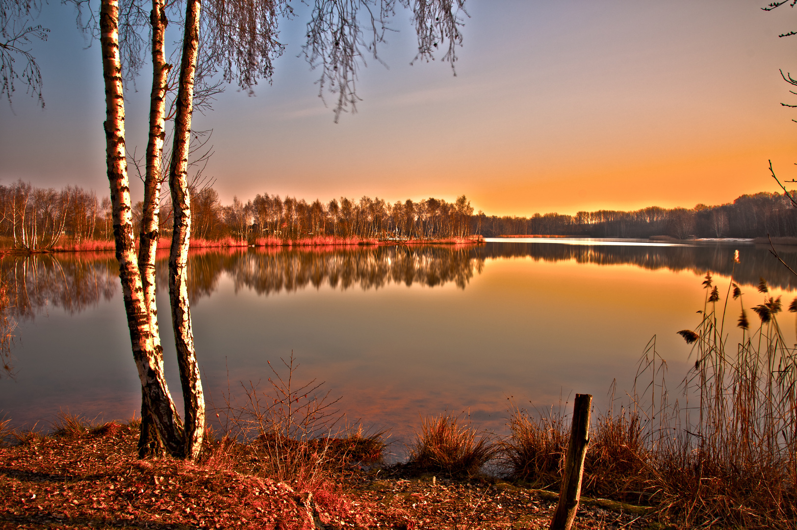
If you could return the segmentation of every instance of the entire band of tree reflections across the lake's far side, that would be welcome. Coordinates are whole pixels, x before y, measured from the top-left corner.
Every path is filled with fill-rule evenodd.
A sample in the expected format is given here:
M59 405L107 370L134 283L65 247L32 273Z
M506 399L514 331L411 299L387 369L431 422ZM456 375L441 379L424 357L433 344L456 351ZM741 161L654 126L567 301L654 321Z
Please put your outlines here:
M740 263L734 264L734 250ZM797 248L778 249L797 263ZM167 252L158 255L158 285L167 289ZM190 253L191 300L210 296L222 274L235 289L259 295L319 289L380 289L390 284L465 289L485 261L530 257L535 261L575 261L595 265L635 265L642 269L733 274L741 285L764 277L780 289L797 289L797 278L780 265L765 245L563 245L547 242L496 242L466 246L315 247L309 249L197 249ZM0 273L8 282L14 315L32 317L48 306L81 312L118 290L119 267L113 253L6 255Z

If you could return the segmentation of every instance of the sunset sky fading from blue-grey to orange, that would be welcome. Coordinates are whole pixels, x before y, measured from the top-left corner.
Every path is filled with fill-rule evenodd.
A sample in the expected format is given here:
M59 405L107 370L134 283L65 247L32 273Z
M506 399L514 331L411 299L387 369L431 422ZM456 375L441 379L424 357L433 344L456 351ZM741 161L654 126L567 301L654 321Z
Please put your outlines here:
M227 86L194 115L213 129L206 174L222 202L257 193L327 202L465 194L485 214L709 205L797 177L797 8L756 0L467 0L456 77L416 62L399 11L380 57L359 73L358 112L334 123L333 96L300 57L307 12L281 23L286 50L254 95ZM0 184L77 184L108 194L99 43L73 10L45 5L33 43L45 108L18 87L0 104ZM145 67L126 101L128 151L147 139ZM151 74L150 74L151 75ZM795 88L797 91L797 88ZM134 183L134 200L143 186ZM139 199L140 200L140 199Z

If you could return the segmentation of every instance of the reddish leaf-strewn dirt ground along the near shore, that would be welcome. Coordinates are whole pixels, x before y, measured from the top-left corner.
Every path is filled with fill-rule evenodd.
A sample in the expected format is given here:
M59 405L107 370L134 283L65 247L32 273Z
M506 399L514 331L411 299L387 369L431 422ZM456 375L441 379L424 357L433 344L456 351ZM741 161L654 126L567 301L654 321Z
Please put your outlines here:
M112 423L0 449L0 528L520 530L548 528L556 508L554 493L495 481L400 477L391 469L355 473L308 493L212 459L202 465L138 460L137 436L134 427ZM651 528L633 507L585 504L575 528Z

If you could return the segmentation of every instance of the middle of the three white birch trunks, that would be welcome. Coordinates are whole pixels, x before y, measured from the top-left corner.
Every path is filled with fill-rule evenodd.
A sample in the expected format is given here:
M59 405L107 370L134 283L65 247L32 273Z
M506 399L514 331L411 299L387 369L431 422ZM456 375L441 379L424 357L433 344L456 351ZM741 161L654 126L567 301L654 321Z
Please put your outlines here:
M143 216L139 234L139 273L141 274L144 304L147 306L147 323L151 329L155 347L160 348L158 309L155 304L155 253L158 250L159 238L161 159L163 139L166 136L164 120L167 76L171 69L171 65L164 60L167 17L163 11L163 0L152 0L150 25L152 29L152 90L150 92L150 130L147 141L147 175L144 179ZM150 451L158 452L163 447L163 440L160 439L157 432L151 418L151 410L147 407L147 400L142 398L139 457L143 458Z

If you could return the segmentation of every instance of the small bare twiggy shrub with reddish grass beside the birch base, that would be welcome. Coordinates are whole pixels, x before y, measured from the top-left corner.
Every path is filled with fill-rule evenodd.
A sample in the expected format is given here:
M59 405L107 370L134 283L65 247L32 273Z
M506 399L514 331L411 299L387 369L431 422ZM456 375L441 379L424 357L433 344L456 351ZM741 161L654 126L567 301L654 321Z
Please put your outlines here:
M282 362L288 371L285 378L269 363L273 377L268 391L241 383L240 402L225 396L225 406L218 409L223 435L211 444L206 461L306 491L315 491L355 462L379 461L385 448L383 433L336 427L341 417L334 406L340 398L330 399L315 379L297 384L299 364L293 355Z

